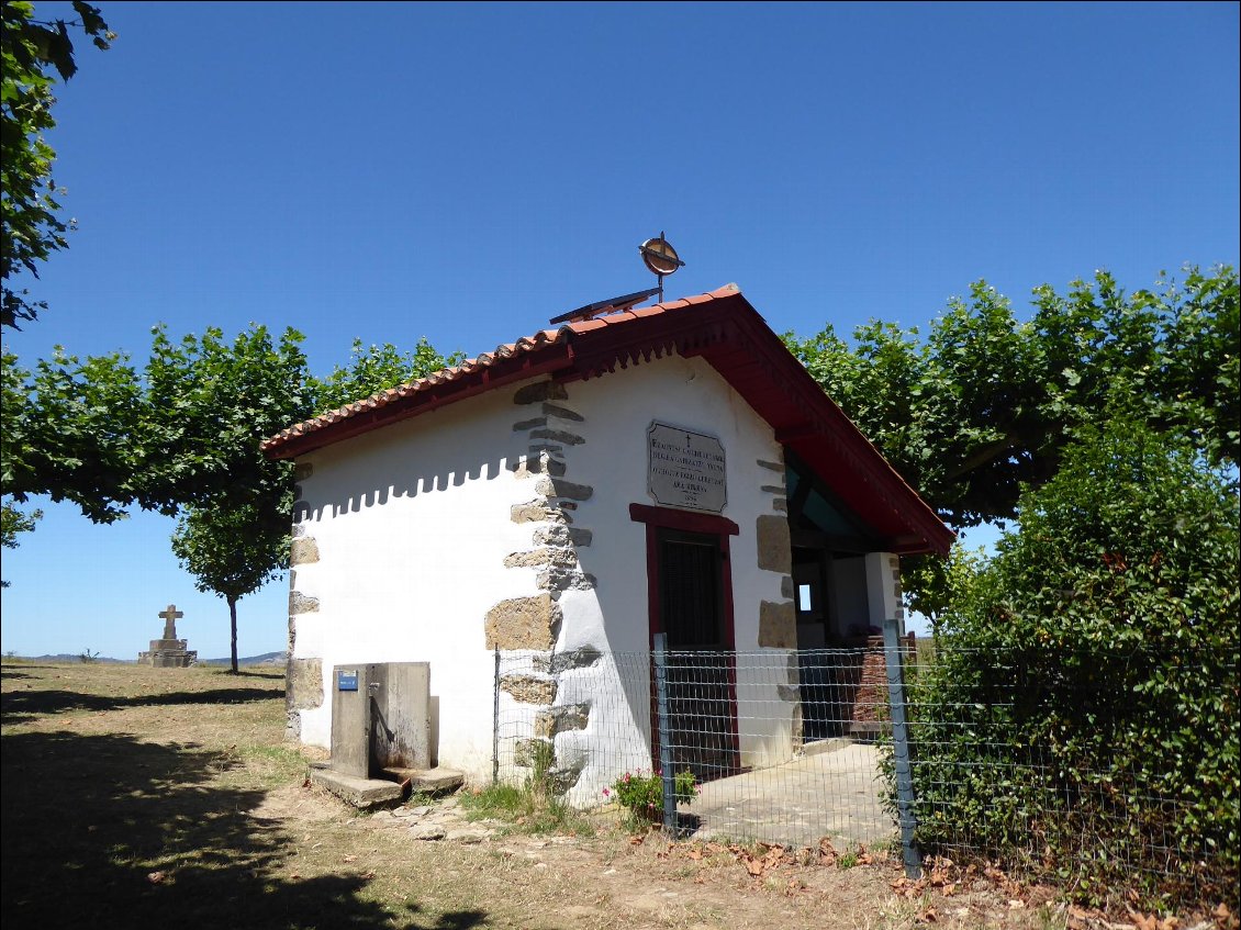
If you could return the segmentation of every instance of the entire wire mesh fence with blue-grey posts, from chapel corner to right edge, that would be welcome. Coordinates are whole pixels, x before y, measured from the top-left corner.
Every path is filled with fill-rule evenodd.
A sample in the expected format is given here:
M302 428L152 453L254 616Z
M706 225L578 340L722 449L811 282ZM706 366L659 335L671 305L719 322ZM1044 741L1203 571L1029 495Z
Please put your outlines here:
M663 675L647 652L500 653L495 774L580 807L639 799L659 822L663 792L628 784L691 773L668 818L683 837L836 848L900 847L903 784L913 854L1095 897L1236 901L1235 657L1175 656L1178 687L1149 693L1167 655L894 644L673 650ZM1219 713L1179 719L1207 684ZM1148 744L1169 732L1193 734L1190 751Z

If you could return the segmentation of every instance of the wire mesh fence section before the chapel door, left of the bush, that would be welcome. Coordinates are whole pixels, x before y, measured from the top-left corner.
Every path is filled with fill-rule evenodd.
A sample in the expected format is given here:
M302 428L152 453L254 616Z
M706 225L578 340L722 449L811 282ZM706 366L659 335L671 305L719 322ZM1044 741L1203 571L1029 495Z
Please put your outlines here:
M887 841L879 758L882 646L805 652L671 651L661 746L652 655L503 653L496 774L536 777L578 806L623 782L690 771L683 835L815 844ZM607 794L604 794L607 792Z

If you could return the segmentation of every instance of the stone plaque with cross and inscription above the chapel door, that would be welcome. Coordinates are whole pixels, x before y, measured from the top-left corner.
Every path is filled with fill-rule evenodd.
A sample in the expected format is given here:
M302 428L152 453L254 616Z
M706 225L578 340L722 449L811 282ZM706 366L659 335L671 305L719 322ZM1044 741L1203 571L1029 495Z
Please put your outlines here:
M720 513L728 502L724 444L715 436L652 423L647 491L665 507Z

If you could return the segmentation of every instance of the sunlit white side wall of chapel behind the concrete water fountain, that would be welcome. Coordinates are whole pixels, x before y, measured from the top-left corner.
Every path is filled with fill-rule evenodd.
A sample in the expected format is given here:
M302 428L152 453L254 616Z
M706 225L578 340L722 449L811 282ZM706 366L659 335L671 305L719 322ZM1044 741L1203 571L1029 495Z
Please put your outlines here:
M464 401L299 459L309 513L303 536L319 560L295 565L314 613L295 616L295 658L321 658L324 701L300 712L302 739L328 746L331 668L431 662L439 758L490 771L493 661L483 618L505 598L535 594L504 568L529 547L509 520L527 500L509 465L524 453L511 392ZM438 698L438 702L436 701Z

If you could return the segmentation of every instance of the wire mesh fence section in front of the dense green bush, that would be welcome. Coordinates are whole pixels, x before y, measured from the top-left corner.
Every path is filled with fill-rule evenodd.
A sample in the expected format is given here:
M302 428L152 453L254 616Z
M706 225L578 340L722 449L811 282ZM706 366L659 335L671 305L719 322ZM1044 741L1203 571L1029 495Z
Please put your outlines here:
M1235 909L1235 647L927 646L903 670L920 852Z

